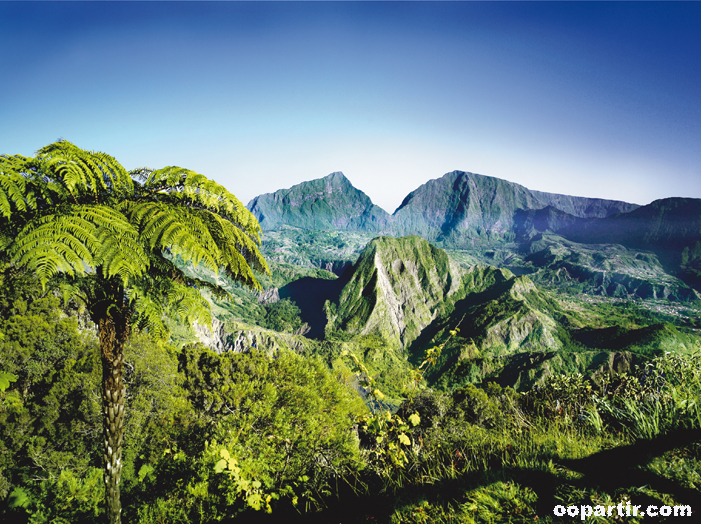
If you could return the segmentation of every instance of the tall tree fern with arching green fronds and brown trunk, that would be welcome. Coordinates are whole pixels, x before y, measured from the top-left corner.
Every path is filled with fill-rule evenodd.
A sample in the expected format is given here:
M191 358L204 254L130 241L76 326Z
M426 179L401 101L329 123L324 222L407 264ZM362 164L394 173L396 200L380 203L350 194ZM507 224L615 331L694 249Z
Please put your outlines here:
M35 157L0 155L0 253L81 299L97 326L107 512L120 522L124 343L166 333L166 314L209 323L180 255L252 288L269 273L260 226L221 185L178 167L127 172L113 157L61 140Z

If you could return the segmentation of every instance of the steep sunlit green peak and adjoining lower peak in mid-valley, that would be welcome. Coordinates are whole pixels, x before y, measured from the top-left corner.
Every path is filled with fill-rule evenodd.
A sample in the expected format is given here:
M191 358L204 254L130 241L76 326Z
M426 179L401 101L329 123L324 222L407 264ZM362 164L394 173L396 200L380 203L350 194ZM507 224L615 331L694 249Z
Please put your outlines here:
M494 267L458 266L420 237L380 237L344 275L338 301L328 308L327 332L375 335L408 350L415 363L460 325L436 376L469 345L477 353L510 354L563 346L557 302L527 277ZM470 350L468 350L469 352Z

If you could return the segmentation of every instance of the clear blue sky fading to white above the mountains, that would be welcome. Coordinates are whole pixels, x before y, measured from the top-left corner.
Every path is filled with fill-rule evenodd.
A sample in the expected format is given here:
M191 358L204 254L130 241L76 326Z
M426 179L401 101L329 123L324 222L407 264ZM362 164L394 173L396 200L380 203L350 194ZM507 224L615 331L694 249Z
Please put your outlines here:
M65 138L254 196L459 169L701 198L701 2L3 2L0 153Z

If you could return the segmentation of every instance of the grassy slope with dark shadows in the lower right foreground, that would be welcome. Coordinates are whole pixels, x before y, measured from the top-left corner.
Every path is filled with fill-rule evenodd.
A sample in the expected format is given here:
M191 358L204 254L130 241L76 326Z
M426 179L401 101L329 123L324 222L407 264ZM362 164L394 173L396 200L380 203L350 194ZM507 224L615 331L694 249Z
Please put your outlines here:
M628 380L615 393L585 388L580 394L585 383L575 377L552 379L525 395L486 388L488 400L469 390L472 397L469 391L454 394L452 405L443 397L433 403L419 397L415 410L422 424L412 434L407 463L375 464L378 474L366 472L356 485L362 488L302 521L556 523L563 521L553 512L557 505L606 510L628 502L642 508L689 505L698 517L698 364L699 355L659 357L639 370L648 377L656 370L659 380ZM467 400L458 405L463 397ZM475 408L476 402L483 405ZM501 418L485 416L489 409ZM470 417L481 422L471 423ZM673 515L618 517L616 510L612 516L587 518L597 523L674 520Z

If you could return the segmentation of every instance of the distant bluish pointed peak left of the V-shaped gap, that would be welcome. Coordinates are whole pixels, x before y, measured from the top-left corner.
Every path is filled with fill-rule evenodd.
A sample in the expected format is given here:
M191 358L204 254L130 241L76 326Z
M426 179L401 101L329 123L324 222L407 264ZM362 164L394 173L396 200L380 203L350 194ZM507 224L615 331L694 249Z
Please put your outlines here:
M382 231L389 218L340 172L257 196L246 207L264 230L288 225L313 230Z

